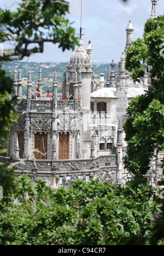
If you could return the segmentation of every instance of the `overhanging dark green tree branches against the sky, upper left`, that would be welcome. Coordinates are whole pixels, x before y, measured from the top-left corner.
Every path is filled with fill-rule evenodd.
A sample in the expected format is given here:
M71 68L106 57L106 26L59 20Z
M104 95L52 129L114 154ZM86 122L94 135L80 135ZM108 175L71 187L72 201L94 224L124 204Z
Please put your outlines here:
M69 3L64 0L22 0L14 13L0 9L0 40L15 45L4 50L3 60L43 53L45 42L58 43L63 51L74 49L78 38L67 13Z

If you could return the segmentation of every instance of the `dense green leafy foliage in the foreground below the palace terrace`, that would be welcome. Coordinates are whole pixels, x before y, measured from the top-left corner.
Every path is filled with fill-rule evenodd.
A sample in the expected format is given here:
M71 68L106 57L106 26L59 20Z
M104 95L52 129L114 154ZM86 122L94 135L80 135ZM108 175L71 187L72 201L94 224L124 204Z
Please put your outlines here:
M141 180L124 189L98 180L55 191L38 181L32 188L28 200L1 212L0 245L126 245L134 236L142 245L160 207L149 201L154 189Z

